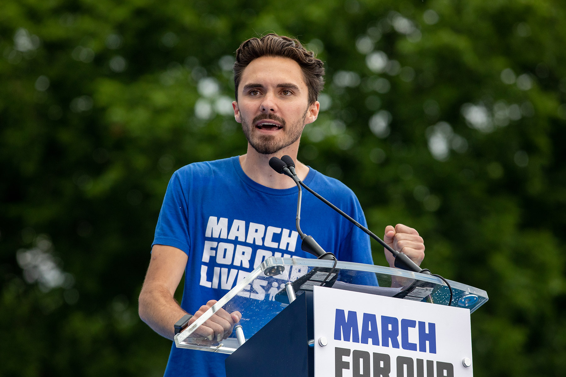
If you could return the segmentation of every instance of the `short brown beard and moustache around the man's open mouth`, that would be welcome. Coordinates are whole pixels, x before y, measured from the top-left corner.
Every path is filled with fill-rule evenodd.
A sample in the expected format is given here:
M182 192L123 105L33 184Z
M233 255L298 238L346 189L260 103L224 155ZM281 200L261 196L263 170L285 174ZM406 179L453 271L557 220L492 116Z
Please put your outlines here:
M285 119L282 119L273 114L260 114L252 120L251 124L255 124L259 120L263 119L276 120L283 126L282 132L284 132L284 135L282 135L282 137L278 135L255 135L254 138L252 138L252 131L255 127L247 123L245 119L242 119L242 131L244 132L244 135L246 135L248 143L250 143L252 148L254 148L258 153L274 154L277 151L288 147L295 141L299 140L299 138L301 138L303 128L305 128L305 118L307 116L307 111L308 108L301 119L299 119L297 123L291 125L289 128L286 127Z

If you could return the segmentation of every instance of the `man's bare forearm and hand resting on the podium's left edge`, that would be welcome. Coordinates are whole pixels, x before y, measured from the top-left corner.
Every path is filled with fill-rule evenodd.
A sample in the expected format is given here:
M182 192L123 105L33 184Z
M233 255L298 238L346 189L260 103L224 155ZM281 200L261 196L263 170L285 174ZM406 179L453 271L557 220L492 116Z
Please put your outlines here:
M174 324L187 314L174 299L187 259L187 254L182 250L172 246L154 245L139 297L141 320L158 334L171 340L175 336ZM188 324L195 322L215 303L215 300L211 300L201 306ZM229 314L221 309L199 327L196 335L208 340L220 341L230 335L234 324L239 322L241 317L242 315L237 311Z

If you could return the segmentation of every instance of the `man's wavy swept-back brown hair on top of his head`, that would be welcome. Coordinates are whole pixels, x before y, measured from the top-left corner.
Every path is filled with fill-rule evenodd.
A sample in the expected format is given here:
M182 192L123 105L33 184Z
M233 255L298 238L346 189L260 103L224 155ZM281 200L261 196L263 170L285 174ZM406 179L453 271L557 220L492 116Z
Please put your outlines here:
M275 33L266 34L261 38L250 38L242 42L236 50L236 61L234 63L236 101L238 101L238 85L242 79L243 71L252 60L265 56L295 60L301 67L308 87L308 104L311 105L316 101L324 86L324 63L315 58L315 54L305 49L298 40L279 36Z

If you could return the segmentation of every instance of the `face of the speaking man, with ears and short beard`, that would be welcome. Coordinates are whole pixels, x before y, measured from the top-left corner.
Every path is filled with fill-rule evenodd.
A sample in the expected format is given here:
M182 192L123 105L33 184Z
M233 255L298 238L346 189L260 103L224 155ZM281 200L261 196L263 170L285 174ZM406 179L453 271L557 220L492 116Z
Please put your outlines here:
M274 154L298 143L305 124L316 120L318 101L308 105L299 64L282 57L253 60L242 73L234 117L258 153Z

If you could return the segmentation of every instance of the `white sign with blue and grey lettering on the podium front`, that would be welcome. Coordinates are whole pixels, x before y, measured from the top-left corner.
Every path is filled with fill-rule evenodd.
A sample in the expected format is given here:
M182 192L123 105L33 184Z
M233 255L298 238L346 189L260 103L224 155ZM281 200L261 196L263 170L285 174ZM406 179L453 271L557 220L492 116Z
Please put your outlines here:
M314 287L315 377L471 377L470 311Z

